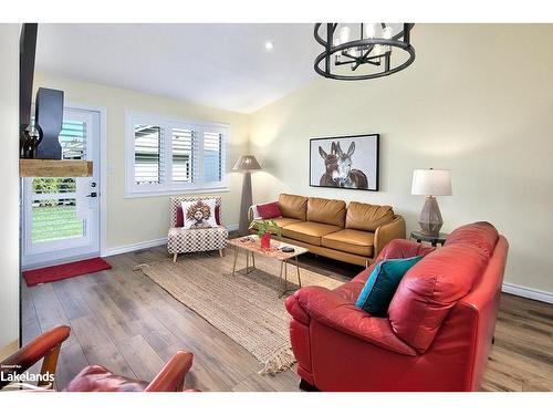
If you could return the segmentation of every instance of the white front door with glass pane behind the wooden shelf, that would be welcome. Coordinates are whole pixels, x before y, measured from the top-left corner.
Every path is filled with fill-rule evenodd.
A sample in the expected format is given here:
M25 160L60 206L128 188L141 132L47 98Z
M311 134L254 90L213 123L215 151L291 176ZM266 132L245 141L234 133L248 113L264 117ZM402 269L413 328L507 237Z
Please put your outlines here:
M64 159L92 160L93 175L23 179L25 269L100 255L100 113L65 108L60 143Z

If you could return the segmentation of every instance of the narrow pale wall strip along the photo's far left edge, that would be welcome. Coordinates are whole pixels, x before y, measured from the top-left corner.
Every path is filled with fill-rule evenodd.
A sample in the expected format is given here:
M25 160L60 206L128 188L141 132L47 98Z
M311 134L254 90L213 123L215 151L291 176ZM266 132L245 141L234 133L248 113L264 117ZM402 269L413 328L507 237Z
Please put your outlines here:
M19 339L19 24L0 24L0 359Z

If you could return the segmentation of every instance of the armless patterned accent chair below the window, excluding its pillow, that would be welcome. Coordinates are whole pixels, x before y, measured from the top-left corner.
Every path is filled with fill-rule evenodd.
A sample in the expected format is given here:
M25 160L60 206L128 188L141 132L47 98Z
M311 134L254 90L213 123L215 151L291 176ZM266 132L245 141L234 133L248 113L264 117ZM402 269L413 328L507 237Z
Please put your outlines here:
M167 250L173 255L173 261L177 261L177 256L185 252L204 252L219 250L223 256L223 249L227 247L229 231L222 225L217 228L207 229L184 229L177 228L177 209L182 201L206 199L211 197L170 197L170 228L167 235ZM216 209L219 218L221 217L221 197L215 196Z

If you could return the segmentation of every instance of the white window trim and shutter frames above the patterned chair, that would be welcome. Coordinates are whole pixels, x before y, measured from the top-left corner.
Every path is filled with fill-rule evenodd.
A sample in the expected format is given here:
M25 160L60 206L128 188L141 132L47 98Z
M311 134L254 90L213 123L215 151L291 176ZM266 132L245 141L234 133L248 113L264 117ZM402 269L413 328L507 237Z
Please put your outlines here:
M137 185L135 183L135 124L159 125L164 129L164 163L166 165L165 180L155 185ZM216 132L221 137L221 181L200 183L173 183L173 152L171 132L173 128L187 128L200 133L204 131ZM169 133L167 133L169 132ZM168 134L168 137L167 137ZM204 138L202 138L204 139ZM125 198L157 197L181 194L202 194L229 191L229 143L230 125L207 121L189 120L171 115L147 114L136 111L125 111ZM204 145L199 146L198 153L199 174L204 173Z

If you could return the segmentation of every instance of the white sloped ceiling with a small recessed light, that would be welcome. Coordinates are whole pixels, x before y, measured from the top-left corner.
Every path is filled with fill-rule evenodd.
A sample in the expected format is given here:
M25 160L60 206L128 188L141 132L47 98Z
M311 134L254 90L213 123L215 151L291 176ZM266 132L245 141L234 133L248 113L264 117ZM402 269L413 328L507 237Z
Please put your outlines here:
M315 79L320 49L313 24L40 24L36 69L250 113Z

